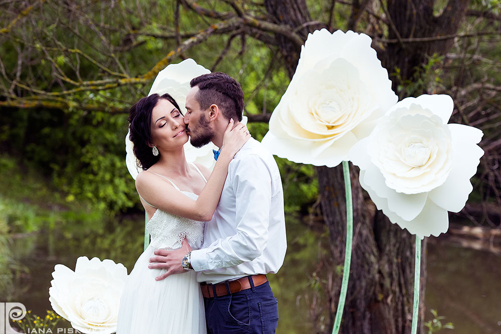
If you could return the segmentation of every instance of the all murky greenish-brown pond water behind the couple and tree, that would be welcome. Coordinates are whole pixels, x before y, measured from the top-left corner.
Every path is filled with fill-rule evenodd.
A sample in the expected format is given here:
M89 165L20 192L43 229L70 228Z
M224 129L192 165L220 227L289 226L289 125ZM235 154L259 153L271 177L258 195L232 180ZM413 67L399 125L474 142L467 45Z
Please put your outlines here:
M14 260L20 264L15 291L0 301L17 301L33 313L45 314L52 309L49 286L54 265L75 268L78 256L110 258L132 269L142 252L141 217L114 224L109 231L60 231L54 229L15 236ZM270 282L279 300L278 333L312 333L310 317L312 289L310 274L318 257L315 236L301 224L288 226L289 249L286 262ZM442 323L452 322L454 330L441 333L501 333L501 256L446 243L434 238L428 243L426 283L426 319L430 309L445 316Z

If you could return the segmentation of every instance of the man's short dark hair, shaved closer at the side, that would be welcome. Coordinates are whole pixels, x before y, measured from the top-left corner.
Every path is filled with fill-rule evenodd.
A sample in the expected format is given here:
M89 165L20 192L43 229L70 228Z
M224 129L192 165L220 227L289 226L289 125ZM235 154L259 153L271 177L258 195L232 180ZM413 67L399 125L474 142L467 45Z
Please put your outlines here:
M225 118L242 120L243 91L235 79L226 73L214 72L196 77L189 84L191 87L198 86L195 99L202 110L215 104Z

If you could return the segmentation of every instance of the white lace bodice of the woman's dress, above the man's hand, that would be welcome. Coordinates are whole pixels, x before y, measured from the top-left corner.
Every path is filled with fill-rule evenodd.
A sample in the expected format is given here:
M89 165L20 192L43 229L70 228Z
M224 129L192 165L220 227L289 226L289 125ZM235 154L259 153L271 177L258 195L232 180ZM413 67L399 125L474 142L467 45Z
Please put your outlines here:
M181 191L189 198L196 200L197 194ZM186 237L193 249L199 249L203 241L203 221L196 221L157 209L146 224L146 229L151 235L150 245L154 249L180 248Z

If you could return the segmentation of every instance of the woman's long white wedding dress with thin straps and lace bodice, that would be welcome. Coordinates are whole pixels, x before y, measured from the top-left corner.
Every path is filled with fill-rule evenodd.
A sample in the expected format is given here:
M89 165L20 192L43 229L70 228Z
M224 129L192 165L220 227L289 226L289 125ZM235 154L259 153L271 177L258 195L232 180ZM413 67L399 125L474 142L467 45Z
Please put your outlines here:
M179 190L174 183L172 185ZM198 197L191 192L180 192L194 200ZM176 200L182 200L182 197ZM192 249L199 249L203 227L203 222L175 216L160 209L155 211L146 224L151 243L137 259L122 292L117 334L206 333L203 297L196 281L196 272L188 271L156 281L155 277L166 270L148 268L149 258L154 256L155 249L180 248L184 237Z

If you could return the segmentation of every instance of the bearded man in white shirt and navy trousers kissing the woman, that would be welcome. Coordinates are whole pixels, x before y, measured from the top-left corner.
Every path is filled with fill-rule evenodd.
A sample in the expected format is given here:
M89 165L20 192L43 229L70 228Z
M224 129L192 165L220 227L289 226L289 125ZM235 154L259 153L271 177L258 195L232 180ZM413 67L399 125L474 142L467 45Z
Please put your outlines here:
M201 147L212 141L220 148L229 119L235 126L242 120L240 84L216 72L193 79L190 86L184 117L190 142ZM229 164L202 248L191 251L184 241L180 249L156 250L150 268L167 269L160 279L197 271L209 332L274 333L278 304L265 274L280 269L286 248L279 169L261 143L250 138Z

